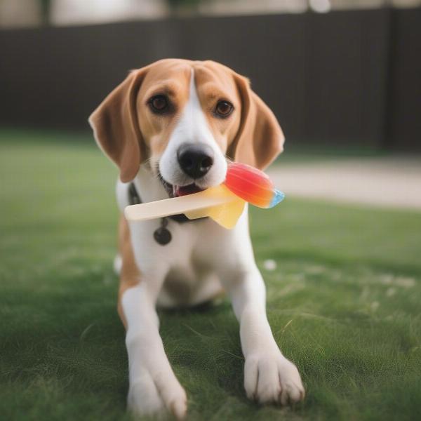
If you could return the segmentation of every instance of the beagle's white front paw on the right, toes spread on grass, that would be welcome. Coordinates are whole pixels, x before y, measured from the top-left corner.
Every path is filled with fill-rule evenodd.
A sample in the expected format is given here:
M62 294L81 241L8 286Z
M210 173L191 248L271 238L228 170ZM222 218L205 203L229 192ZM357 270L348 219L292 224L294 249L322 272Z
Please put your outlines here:
M250 399L259 403L295 403L305 396L297 367L279 350L248 356L244 366L244 387Z

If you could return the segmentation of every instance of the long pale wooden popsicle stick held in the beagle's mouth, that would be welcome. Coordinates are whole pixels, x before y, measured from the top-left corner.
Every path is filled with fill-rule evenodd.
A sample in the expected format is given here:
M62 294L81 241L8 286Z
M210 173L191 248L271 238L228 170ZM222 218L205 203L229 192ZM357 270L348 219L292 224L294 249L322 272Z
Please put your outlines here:
M234 200L236 200L236 196L227 187L220 185L187 196L126 206L124 216L128 221L145 221L210 208Z

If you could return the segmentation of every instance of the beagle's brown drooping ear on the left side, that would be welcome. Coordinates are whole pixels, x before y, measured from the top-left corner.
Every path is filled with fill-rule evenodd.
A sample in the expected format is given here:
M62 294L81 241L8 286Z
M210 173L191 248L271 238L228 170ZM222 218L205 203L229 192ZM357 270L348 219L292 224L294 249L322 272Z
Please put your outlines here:
M145 67L131 72L89 117L98 146L119 166L123 182L135 178L145 159L136 100L146 73Z

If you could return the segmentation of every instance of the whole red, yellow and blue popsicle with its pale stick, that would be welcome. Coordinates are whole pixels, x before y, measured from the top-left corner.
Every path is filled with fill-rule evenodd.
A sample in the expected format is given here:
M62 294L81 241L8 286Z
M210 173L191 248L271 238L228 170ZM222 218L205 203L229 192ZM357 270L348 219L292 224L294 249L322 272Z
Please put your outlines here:
M225 182L220 186L186 196L127 206L124 215L129 221L142 221L184 213L189 219L209 217L222 227L232 229L246 202L260 208L272 208L283 198L283 193L274 188L265 173L234 162L229 164Z

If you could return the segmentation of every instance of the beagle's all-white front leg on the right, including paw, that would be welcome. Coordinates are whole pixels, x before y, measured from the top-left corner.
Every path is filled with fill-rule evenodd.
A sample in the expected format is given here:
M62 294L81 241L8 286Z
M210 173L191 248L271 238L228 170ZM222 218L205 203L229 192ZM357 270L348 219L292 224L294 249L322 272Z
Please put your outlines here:
M253 255L250 255L245 271L234 278L225 285L240 323L247 396L260 403L279 402L282 405L302 400L305 392L300 374L276 345L267 321L265 283Z

